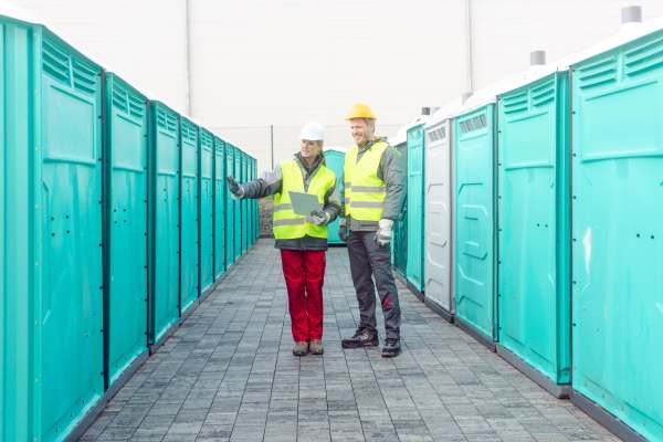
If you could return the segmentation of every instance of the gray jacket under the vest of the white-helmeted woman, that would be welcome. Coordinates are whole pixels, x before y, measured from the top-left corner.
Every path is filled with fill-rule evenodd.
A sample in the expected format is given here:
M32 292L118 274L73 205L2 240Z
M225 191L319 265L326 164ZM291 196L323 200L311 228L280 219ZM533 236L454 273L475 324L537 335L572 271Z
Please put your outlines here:
M307 167L302 160L301 155L295 154L295 159L302 169L304 177L304 190L308 190L308 185L315 172L320 166L325 165L325 157L322 155L313 164ZM264 198L275 193L281 193L283 188L283 169L278 165L274 170L264 172L261 178L241 185L244 191L243 198ZM338 197L338 178L334 187L325 194L323 210L329 214L329 222L334 221L340 213L340 199ZM290 250L327 250L327 240L323 238L304 236L294 240L276 240L276 249Z

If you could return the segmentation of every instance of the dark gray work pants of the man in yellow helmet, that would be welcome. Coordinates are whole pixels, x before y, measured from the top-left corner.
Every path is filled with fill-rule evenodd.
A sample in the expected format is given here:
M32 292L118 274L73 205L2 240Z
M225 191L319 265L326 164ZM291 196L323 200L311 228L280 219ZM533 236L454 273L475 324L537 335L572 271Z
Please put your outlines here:
M352 284L359 304L359 326L376 330L375 287L377 287L385 315L387 338L398 339L400 337L400 305L393 273L391 273L391 253L389 245L379 246L375 236L376 232L350 231L347 241Z

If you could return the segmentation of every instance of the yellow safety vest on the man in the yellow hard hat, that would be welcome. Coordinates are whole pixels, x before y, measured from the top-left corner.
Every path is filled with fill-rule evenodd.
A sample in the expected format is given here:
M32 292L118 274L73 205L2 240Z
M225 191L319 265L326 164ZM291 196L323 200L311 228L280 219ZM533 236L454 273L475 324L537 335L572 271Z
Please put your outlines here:
M387 185L378 178L382 154L389 145L373 144L357 161L355 145L345 158L345 213L359 221L380 221L385 211Z

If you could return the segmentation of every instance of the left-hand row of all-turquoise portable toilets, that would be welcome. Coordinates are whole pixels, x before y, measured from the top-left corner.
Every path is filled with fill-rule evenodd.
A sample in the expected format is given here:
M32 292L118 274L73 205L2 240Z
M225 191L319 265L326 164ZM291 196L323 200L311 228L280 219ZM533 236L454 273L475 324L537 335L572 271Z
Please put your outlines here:
M257 239L256 161L0 18L0 440L73 438Z

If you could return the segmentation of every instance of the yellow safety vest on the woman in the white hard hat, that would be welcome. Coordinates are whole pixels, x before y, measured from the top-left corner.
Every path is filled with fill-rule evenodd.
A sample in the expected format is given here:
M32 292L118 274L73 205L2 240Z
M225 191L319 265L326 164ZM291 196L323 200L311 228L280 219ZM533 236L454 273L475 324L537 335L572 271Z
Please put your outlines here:
M277 240L295 240L306 235L327 238L327 227L316 225L311 217L303 217L293 211L290 193L304 192L304 177L297 160L290 160L281 166L283 185L281 193L274 196L274 238ZM308 183L307 193L315 194L324 206L325 194L336 185L336 176L325 165L320 165Z

